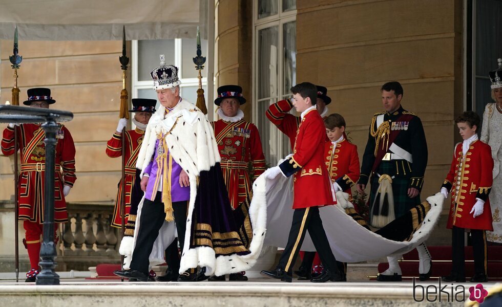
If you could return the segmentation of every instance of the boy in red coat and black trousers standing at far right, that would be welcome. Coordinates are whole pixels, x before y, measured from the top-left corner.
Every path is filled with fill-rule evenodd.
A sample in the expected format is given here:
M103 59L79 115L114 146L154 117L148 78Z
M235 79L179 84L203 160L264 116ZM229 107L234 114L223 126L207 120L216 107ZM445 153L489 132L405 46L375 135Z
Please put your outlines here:
M443 281L465 282L464 234L471 232L474 254L474 276L471 282L487 281L486 230L492 230L492 215L488 194L492 187L493 159L490 146L478 140L479 116L464 112L455 123L463 143L455 145L450 172L441 187L451 206L447 228L452 230L452 260L450 275Z

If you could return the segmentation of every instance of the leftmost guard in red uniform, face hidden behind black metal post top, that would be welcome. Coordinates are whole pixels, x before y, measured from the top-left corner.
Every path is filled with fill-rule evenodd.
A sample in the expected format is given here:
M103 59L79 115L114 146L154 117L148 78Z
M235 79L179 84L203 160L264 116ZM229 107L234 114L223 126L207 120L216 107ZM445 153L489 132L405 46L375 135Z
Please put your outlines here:
M35 88L28 90L28 100L25 105L30 107L49 108L56 101L51 97L51 90ZM14 140L14 129L17 130L18 139ZM41 235L44 222L44 179L45 179L45 133L40 124L9 124L3 131L2 152L5 156L15 155L14 142L21 156L21 169L19 174L19 220L23 221L25 238L23 243L28 250L31 270L26 273L26 282L35 282L39 273ZM75 144L70 131L59 124L56 134L56 157L54 178L54 222L66 223L65 197L70 193L75 180ZM57 241L56 237L56 241Z

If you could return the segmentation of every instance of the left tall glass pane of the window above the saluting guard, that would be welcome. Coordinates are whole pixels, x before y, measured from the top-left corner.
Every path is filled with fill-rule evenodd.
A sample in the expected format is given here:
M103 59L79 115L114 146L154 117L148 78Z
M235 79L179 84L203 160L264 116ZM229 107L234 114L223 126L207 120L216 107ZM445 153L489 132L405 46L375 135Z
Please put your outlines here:
M279 28L258 31L258 99L277 97Z

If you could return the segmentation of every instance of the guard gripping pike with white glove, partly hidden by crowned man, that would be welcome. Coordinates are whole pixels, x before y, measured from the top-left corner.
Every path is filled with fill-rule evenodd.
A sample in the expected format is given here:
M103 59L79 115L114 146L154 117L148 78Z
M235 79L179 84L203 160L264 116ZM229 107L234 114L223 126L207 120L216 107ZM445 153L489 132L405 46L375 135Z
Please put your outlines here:
M143 141L144 131L147 128L148 121L152 114L155 112L155 104L157 100L155 99L132 99L133 108L129 112L134 113L132 119L136 128L133 130L127 130L125 132L124 141L126 146L126 155L124 161L126 162L124 168L126 170L126 178L124 183L126 185L126 224L129 221L129 211L131 207L131 192L133 190L134 181L136 178L136 162L138 160L138 152L141 147L141 142ZM127 119L121 118L118 121L117 129L113 134L112 138L107 142L107 156L110 158L118 158L122 156L122 130L127 125ZM120 206L122 203L122 181L118 184L117 198L115 201L115 209L113 210L112 227L120 228L122 225L120 216ZM131 216L131 222L134 223L136 216ZM133 235L133 233L127 233L127 235Z

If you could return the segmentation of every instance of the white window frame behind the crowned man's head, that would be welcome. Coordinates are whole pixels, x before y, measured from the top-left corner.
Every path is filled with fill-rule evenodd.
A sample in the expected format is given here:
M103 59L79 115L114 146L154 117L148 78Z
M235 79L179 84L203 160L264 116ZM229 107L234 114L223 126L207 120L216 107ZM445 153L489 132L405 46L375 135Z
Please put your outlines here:
M195 48L194 48L195 50ZM199 79L198 78L183 78L183 73L181 69L181 56L182 56L182 50L181 50L181 38L176 38L174 40L174 65L178 68L178 75L180 77L180 92L183 87L186 86L199 86ZM195 56L195 52L194 52ZM152 89L153 90L153 81L148 80L148 81L142 81L138 80L138 40L132 40L131 41L131 94L133 98L138 97L138 90L144 90L144 89ZM160 59L159 59L159 64L160 64ZM152 67L154 69L154 67ZM194 64L194 69L195 69L195 64ZM207 77L202 77L202 87L207 88ZM191 101L192 103L195 103L195 101Z

